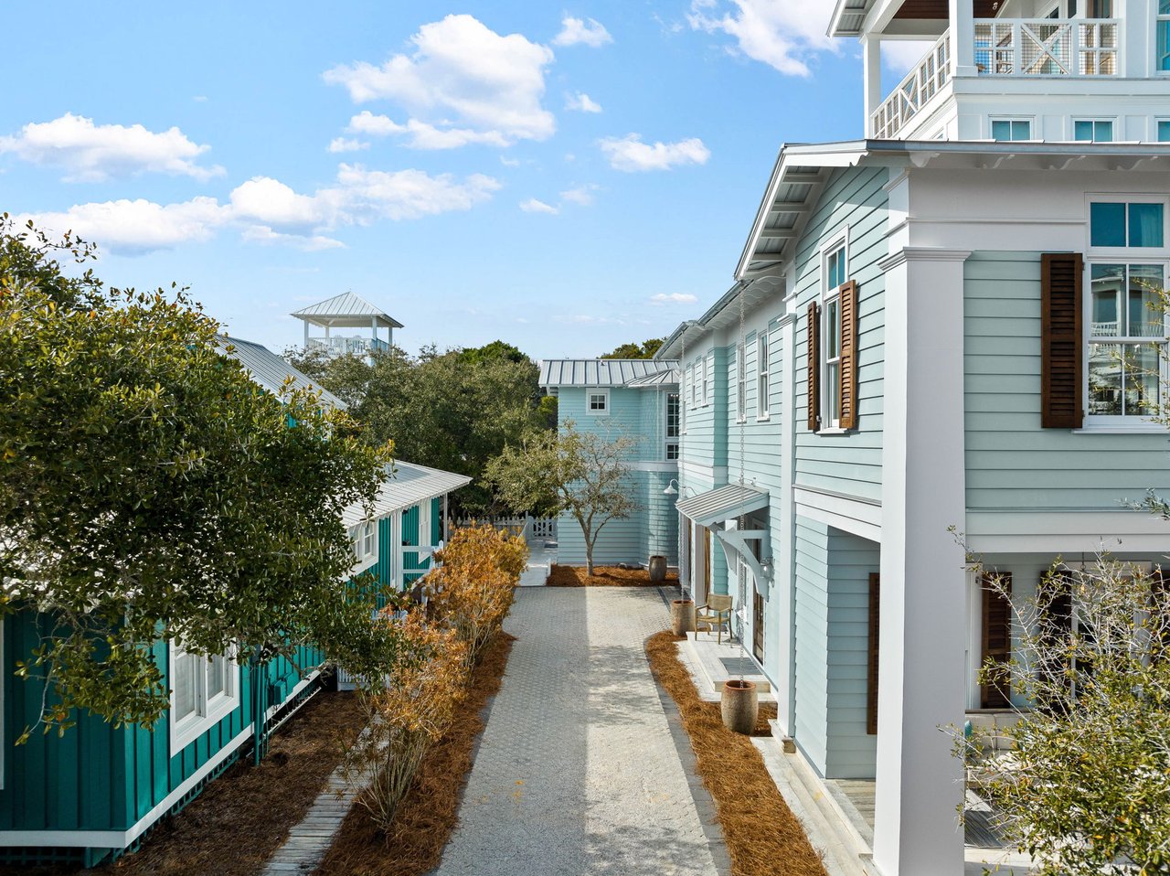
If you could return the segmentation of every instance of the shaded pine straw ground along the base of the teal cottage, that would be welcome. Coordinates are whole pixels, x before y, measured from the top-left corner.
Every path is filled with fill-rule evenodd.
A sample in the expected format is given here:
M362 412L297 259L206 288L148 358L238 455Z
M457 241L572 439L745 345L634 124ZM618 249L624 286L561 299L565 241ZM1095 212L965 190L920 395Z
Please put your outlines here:
M353 693L322 691L271 737L259 766L241 758L183 812L165 819L133 855L90 872L253 876L304 817L364 726Z

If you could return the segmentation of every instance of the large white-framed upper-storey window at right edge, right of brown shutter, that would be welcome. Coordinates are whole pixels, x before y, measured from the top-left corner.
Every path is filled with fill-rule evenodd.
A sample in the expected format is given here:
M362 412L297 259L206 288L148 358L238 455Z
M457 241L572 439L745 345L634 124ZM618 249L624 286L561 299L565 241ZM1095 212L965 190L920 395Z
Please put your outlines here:
M1165 198L1102 197L1089 204L1089 424L1134 424L1162 405L1166 208Z

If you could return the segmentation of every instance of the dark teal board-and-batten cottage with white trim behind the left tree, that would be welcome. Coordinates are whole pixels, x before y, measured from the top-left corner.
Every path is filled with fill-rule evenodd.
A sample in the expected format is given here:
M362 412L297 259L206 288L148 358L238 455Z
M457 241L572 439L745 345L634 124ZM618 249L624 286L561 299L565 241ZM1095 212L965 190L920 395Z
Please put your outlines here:
M309 383L259 344L222 338L221 345L269 391L278 391L285 376L296 385ZM322 399L344 404L328 392ZM372 516L358 507L345 514L355 539L353 574L372 570L380 582L400 587L421 576L443 534L446 491L467 480L399 463L387 473ZM343 591L339 583L339 598ZM0 861L92 865L136 848L321 682L324 653L315 648L297 649L295 663L282 657L253 666L159 641L154 656L172 707L153 730L115 727L83 713L64 735L33 733L18 746L43 704L41 686L15 678L13 670L48 623L32 610L0 618Z

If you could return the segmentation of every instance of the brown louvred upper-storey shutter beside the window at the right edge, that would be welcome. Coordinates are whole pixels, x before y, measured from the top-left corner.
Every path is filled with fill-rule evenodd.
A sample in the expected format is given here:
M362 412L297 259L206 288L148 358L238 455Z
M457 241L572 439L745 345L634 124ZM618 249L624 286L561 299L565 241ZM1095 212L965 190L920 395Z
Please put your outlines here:
M1040 256L1040 425L1080 429L1085 420L1080 253Z

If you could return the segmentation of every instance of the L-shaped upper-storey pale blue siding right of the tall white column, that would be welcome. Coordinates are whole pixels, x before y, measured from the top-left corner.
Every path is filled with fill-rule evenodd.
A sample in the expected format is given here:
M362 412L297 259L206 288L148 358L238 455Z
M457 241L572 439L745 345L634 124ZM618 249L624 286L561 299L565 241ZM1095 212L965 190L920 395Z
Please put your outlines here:
M969 508L1114 511L1170 488L1165 434L1040 427L1040 253L968 259L964 371Z

